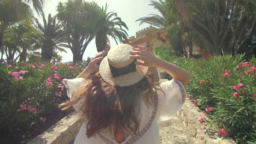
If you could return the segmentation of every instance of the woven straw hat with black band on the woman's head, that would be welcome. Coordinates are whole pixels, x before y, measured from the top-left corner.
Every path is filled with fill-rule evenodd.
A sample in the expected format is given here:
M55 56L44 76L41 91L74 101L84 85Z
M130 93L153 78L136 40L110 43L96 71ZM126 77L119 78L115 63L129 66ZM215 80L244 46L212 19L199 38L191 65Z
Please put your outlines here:
M136 65L139 59L129 58L132 46L119 44L111 48L100 64L100 74L104 81L116 86L131 86L140 81L148 67Z

